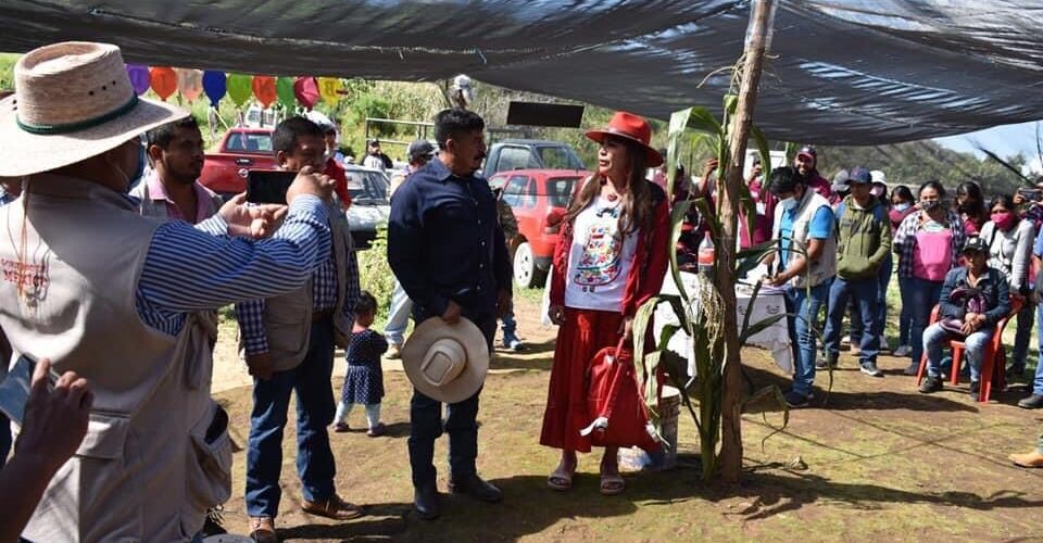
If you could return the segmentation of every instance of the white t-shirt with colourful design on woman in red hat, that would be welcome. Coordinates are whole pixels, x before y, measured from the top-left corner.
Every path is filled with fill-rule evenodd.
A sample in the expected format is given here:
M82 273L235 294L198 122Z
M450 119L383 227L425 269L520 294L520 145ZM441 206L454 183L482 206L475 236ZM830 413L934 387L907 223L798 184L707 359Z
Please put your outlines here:
M621 240L620 202L601 197L576 216L565 270L565 305L619 312L638 245L637 232Z

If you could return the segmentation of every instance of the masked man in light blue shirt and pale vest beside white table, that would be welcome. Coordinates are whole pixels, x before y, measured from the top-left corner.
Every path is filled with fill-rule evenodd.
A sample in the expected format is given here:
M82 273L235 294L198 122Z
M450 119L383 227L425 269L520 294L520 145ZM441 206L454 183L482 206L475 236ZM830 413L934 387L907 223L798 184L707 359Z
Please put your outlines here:
M774 255L777 273L767 282L786 288L787 313L796 316L787 319L794 372L786 403L803 407L815 383L816 339L810 323L818 321L837 274L833 210L826 198L807 187L804 176L788 166L771 171L771 193L778 199L772 239L779 247Z

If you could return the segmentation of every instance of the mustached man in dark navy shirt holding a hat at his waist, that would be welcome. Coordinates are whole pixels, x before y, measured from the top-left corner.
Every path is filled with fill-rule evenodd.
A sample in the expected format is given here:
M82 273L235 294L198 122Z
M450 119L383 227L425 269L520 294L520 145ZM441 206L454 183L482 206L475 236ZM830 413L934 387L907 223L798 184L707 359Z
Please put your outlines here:
M445 110L435 122L439 154L410 176L391 198L388 261L413 300L413 318L474 321L492 350L497 317L511 308L511 261L489 184L474 173L486 155L485 122L464 110ZM478 393L447 408L450 487L486 502L500 490L475 470ZM441 403L414 390L410 405L410 464L416 510L438 516L432 464L442 434Z

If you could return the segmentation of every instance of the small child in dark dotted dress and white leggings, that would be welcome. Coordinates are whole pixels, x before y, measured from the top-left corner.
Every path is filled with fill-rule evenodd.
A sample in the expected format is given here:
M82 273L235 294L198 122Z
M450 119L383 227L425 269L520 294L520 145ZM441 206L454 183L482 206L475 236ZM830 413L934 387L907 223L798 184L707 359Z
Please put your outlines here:
M388 350L388 340L379 332L370 330L374 315L377 313L377 299L362 291L355 305L355 325L344 357L348 359L348 375L341 390L337 416L334 417L335 432L348 431L348 415L354 404L366 406L366 420L369 430L366 435L384 435L385 426L380 422L380 399L384 397L384 370L380 356Z

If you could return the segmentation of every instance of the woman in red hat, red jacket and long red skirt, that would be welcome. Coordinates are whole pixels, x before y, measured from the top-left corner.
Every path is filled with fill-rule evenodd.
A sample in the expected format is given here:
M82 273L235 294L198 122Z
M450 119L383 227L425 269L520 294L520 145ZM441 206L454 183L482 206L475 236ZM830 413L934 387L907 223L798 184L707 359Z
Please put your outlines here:
M645 169L663 163L643 118L616 112L604 130L587 137L601 144L598 173L576 197L554 251L550 318L558 325L554 366L540 443L562 450L548 478L554 490L571 488L576 453L590 452L580 435L590 424L585 374L598 351L631 336L638 308L656 295L669 261L669 203ZM627 424L613 418L613 424ZM605 447L601 492L619 494L617 447Z

